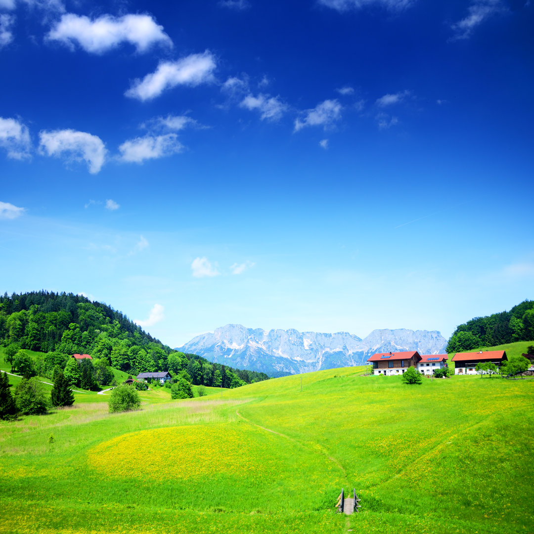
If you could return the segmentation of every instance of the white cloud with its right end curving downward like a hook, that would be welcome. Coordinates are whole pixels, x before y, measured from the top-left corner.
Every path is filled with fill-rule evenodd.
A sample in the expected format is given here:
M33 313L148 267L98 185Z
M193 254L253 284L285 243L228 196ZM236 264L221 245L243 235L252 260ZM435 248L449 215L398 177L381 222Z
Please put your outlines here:
M91 174L96 174L106 159L106 148L100 137L76 130L41 131L41 154L59 157L67 155L67 161L86 161Z

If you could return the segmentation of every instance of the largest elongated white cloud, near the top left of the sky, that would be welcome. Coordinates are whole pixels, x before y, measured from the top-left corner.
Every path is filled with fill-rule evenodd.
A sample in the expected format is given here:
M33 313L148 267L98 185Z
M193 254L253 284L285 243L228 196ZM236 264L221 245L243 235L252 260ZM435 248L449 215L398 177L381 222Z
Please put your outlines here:
M172 46L170 37L163 32L163 26L157 25L150 15L124 15L118 18L102 15L91 20L83 15L67 13L46 38L60 41L72 49L74 43L78 43L86 52L96 54L124 42L135 45L138 52L145 52L155 43Z

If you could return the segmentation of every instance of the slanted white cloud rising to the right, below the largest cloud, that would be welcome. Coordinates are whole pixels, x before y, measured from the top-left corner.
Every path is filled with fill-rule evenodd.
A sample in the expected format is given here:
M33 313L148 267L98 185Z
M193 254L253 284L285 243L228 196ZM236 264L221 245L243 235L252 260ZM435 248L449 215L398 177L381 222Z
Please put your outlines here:
M155 72L147 74L143 80L136 80L124 94L144 101L158 97L176 85L195 87L213 81L215 67L215 56L209 51L177 61L161 61Z

